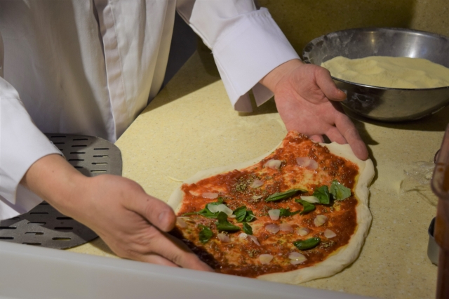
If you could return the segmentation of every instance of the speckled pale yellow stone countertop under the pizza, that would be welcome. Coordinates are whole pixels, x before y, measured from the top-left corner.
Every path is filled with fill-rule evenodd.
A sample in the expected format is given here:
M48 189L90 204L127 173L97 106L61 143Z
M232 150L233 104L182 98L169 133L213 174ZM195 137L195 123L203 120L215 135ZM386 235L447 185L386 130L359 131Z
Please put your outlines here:
M123 176L167 200L197 171L247 161L272 150L286 128L274 102L250 114L235 112L210 54L195 53L116 142ZM379 298L434 298L436 266L427 258L427 229L436 197L419 161L434 158L449 122L449 107L406 124L354 119L376 175L370 187L373 223L359 258L339 274L304 286ZM402 185L401 185L402 184ZM97 239L70 251L114 256Z

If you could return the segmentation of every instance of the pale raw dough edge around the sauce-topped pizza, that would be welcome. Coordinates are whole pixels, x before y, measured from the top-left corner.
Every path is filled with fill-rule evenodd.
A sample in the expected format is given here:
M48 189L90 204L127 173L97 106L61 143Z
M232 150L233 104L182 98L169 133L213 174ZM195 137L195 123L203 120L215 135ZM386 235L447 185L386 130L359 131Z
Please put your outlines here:
M368 208L368 197L369 197L368 186L370 185L370 182L371 180L373 180L375 175L373 162L370 159L366 161L358 159L352 152L351 147L349 145L340 145L336 142L321 145L328 147L330 153L340 156L349 161L352 161L359 168L358 180L356 187L354 188L355 190L354 193L356 195L356 198L358 199L358 206L356 206L356 213L357 213L356 232L351 236L349 244L338 248L337 251L331 253L331 255L328 256L328 258L326 258L326 260L323 260L321 263L317 263L314 266L305 267L290 272L264 274L257 277L257 279L276 281L286 284L300 284L302 282L310 281L312 279L330 277L333 274L342 271L344 267L347 267L348 265L353 263L361 251L361 246L363 246L363 241L365 240L366 235L368 234L368 229L370 227L372 219L370 210ZM213 175L217 175L220 173L227 173L228 171L233 171L234 169L242 169L248 166L252 166L262 161L262 159L267 157L269 154L272 154L272 152L274 152L274 150L276 150L278 147L275 147L267 154L264 154L263 156L250 161L230 166L223 166L220 168L208 169L206 171L199 171L191 178L185 180L184 183L192 184L194 182L198 182L199 180L208 178ZM168 199L168 204L175 210L175 213L177 213L177 211L179 211L180 207L182 206L182 198L183 192L179 187L173 192L173 194L171 194L170 199Z

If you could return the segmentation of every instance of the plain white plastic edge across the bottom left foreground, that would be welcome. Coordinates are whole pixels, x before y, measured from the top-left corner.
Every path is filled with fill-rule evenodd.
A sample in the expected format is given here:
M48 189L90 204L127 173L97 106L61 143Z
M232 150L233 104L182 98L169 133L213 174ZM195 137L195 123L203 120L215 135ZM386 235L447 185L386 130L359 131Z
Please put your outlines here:
M0 241L1 298L366 298Z

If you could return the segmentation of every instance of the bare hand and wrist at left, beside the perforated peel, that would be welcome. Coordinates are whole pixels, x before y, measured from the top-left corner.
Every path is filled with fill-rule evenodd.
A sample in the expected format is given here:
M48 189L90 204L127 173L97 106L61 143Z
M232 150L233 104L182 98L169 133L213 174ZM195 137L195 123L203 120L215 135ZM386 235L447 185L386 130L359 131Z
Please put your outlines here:
M170 206L132 180L116 175L87 178L64 158L51 154L36 161L21 183L90 227L121 258L211 271L185 244L166 233L176 221Z

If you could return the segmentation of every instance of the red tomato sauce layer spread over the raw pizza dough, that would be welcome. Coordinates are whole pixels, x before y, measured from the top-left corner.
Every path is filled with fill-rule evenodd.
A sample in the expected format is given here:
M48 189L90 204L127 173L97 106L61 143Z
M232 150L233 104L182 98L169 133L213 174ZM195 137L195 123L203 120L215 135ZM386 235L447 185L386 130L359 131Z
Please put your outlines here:
M318 163L316 170L310 170L298 166L297 157L309 157ZM279 169L264 167L269 160L281 160ZM230 241L223 243L217 238L216 219L205 218L201 215L189 215L183 218L187 221L187 226L177 227L173 232L192 248L208 265L217 272L234 274L245 277L257 277L262 274L275 272L288 272L315 265L335 252L338 248L348 244L351 235L356 230L356 205L357 199L354 197L354 187L358 175L358 166L330 154L327 147L322 147L311 142L304 135L296 132L289 132L283 140L281 147L275 150L268 157L255 164L241 170L234 170L220 175L214 175L196 182L194 184L182 185L184 199L178 215L200 211L206 204L217 201L217 199L203 198L204 193L217 193L232 210L240 206L246 206L253 211L256 219L248 222L253 227L253 236L257 238L260 246L250 239L239 238L241 232L229 233ZM257 188L250 187L255 180L261 180L263 185ZM290 211L298 211L303 206L295 199L300 199L300 195L313 194L316 187L330 184L337 180L345 187L351 189L352 194L343 201L333 201L330 205L316 204L316 210L310 213L281 217L279 220L269 218L268 211L271 209L290 208ZM269 195L275 192L285 192L294 188L307 190L305 193L298 193L288 199L281 201L264 201ZM316 215L326 215L328 220L324 225L316 227L314 219ZM232 224L242 227L242 224L233 218L228 218ZM281 225L288 223L292 231L279 231L272 234L265 230L269 224ZM213 237L205 244L199 241L201 225L210 227ZM310 232L302 237L296 233L299 227L307 227ZM323 232L328 229L337 234L336 237L326 238ZM321 242L315 248L306 251L298 250L294 241L305 240L311 237L319 237ZM288 256L292 252L302 253L307 260L299 265L292 265ZM260 263L261 254L271 254L273 260L268 264Z

